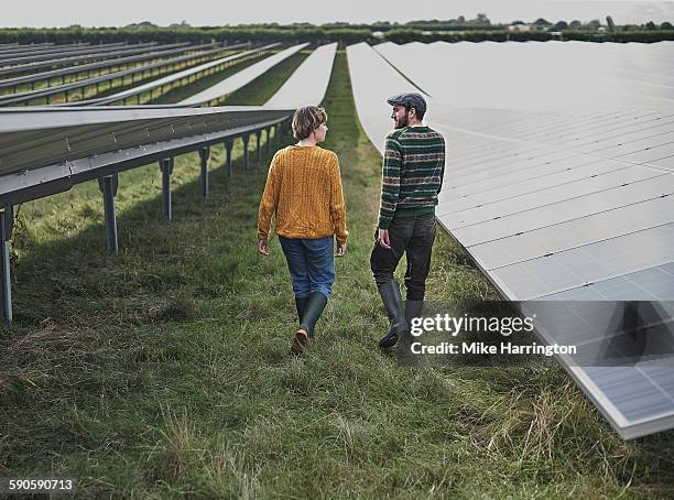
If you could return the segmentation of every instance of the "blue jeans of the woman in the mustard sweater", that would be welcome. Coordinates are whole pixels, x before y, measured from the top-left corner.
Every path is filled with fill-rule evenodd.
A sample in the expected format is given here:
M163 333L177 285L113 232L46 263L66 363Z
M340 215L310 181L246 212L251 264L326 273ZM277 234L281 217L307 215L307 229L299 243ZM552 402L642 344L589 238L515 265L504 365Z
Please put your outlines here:
M335 283L335 241L331 236L317 239L279 237L293 280L296 298L314 292L330 296Z

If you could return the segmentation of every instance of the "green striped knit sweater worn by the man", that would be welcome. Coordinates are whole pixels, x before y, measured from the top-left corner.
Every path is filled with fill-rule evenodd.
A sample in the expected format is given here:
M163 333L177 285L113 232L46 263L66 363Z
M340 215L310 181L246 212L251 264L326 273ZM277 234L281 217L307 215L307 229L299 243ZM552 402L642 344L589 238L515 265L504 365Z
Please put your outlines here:
M445 172L445 139L428 127L404 127L387 135L379 228L393 217L435 211Z

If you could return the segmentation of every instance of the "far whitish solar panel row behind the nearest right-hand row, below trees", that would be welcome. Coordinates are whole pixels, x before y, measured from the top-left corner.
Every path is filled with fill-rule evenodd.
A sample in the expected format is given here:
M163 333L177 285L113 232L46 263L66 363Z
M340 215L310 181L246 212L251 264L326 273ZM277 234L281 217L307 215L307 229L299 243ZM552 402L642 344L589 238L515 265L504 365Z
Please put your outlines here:
M584 106L659 108L674 104L671 83L653 85L650 76L672 76L671 42L652 44L651 48L651 44L588 45L383 43L374 50L436 100L455 106L540 110ZM420 67L428 70L421 72ZM626 69L637 73L626 74Z

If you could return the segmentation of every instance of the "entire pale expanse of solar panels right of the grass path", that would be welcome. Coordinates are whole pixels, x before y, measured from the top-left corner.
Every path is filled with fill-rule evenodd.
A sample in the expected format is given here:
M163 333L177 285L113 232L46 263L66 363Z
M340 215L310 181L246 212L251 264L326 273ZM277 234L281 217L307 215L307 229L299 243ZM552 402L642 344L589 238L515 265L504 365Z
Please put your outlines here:
M439 222L513 301L674 301L674 44L455 45L382 44L388 68L347 50L380 149L391 124L369 101L410 88L398 72L433 96L428 122L448 148ZM562 85L532 74L546 57ZM564 74L570 62L598 65L600 85ZM494 78L507 67L521 72ZM557 326L542 334L557 340ZM624 437L674 427L674 361L566 368Z

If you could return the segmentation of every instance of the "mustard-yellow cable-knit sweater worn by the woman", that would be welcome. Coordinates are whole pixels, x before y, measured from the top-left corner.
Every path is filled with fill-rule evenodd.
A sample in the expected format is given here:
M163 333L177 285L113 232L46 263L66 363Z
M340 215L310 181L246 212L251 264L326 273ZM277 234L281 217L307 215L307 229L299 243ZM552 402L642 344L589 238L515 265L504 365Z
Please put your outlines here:
M339 161L317 145L289 145L274 154L258 213L258 238L269 237L272 214L275 232L285 238L349 236L339 175Z

